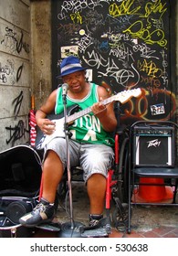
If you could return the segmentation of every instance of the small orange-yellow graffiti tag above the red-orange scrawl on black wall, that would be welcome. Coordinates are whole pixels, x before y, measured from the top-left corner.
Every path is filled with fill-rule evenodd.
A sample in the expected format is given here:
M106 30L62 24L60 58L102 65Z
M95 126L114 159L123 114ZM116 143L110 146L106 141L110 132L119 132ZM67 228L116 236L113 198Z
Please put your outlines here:
M144 59L142 63L138 60L138 69L144 71L149 77L152 77L152 79L162 76L162 69L158 69L152 60L147 62L147 60Z

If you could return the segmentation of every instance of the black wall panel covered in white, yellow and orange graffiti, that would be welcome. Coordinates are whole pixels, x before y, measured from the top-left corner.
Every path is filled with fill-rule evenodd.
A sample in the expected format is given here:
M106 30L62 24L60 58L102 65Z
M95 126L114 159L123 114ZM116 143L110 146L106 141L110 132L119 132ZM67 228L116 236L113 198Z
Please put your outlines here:
M120 106L123 123L173 119L170 1L53 1L52 12L54 88L61 60L79 56L88 80L108 91L141 88Z

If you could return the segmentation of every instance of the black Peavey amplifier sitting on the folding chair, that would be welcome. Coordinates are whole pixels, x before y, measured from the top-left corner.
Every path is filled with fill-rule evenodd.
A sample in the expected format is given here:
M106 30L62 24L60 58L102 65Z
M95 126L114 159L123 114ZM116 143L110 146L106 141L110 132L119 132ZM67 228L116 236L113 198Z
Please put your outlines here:
M133 132L133 163L136 166L173 166L173 127L135 126Z

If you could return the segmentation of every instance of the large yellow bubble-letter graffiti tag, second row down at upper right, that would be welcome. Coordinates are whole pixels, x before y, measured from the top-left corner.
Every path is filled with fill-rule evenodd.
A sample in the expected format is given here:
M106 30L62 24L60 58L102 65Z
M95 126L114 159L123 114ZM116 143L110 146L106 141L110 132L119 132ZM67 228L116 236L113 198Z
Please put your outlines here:
M150 32L149 29L143 27L142 22L139 20L123 31L123 33L126 32L130 33L131 37L141 38L146 44L158 44L161 47L167 45L167 40L164 39L164 32L162 29L158 28Z

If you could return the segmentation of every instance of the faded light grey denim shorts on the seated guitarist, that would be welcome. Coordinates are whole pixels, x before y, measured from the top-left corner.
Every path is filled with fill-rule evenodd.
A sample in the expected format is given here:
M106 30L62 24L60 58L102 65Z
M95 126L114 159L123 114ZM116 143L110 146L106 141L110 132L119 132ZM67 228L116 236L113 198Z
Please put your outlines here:
M63 163L64 170L67 166L67 144L64 138L55 138L47 144L47 150L55 151ZM105 144L79 144L69 140L69 163L70 167L81 166L83 169L83 179L85 182L93 174L101 174L107 177L108 170L113 164L113 149Z

